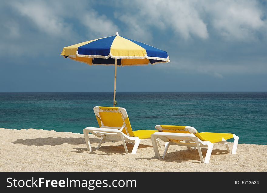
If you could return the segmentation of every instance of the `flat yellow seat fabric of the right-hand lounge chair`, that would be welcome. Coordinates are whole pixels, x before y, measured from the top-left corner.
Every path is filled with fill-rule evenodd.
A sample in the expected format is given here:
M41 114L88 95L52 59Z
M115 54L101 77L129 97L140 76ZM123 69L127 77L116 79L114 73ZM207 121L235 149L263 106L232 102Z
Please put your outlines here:
M210 132L201 132L194 134L202 141L210 141L211 143L217 143L222 141L222 138L225 140L233 138L231 133L210 133Z

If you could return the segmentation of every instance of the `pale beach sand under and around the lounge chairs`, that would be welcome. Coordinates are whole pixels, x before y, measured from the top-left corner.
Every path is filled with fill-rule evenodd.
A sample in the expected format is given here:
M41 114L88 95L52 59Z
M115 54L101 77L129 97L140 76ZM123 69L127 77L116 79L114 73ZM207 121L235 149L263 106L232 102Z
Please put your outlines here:
M96 150L100 138L90 138ZM151 140L141 140L137 154L126 155L122 142L105 142L89 152L82 134L0 128L0 143L0 171L267 171L267 145L238 144L234 155L215 144L210 163L203 164L197 150L176 145L158 160ZM127 146L131 152L133 145ZM159 150L162 155L164 148Z

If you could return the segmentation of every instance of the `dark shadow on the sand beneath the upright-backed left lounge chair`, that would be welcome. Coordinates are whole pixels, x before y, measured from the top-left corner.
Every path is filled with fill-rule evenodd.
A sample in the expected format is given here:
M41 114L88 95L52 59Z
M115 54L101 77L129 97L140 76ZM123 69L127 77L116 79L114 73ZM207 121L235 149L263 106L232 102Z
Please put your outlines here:
M90 139L91 141L91 139ZM126 144L127 145L127 149L129 151L129 154L132 152L134 145L132 144ZM143 145L143 144L139 144L138 149L140 148L152 148L152 145ZM92 147L92 152L87 151L87 148L73 148L73 152L76 153L83 153L83 152L88 152L90 154L97 154L97 155L112 155L112 154L126 154L123 145L104 145L101 146L97 151L101 151L104 152L103 153L98 153L96 151L96 147ZM138 151L138 150L137 150Z

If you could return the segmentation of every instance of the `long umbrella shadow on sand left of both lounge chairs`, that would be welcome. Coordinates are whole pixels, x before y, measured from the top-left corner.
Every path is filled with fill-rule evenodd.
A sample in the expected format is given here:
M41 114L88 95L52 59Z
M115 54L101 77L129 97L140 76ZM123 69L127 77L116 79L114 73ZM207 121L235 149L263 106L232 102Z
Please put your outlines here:
M91 142L100 142L100 139L91 139ZM62 145L64 143L70 144L70 145L83 145L85 144L84 138L62 138L62 137L44 137L44 138L35 138L35 139L17 139L17 141L12 142L14 144L23 144L23 145L35 145L35 146L43 146L43 145Z

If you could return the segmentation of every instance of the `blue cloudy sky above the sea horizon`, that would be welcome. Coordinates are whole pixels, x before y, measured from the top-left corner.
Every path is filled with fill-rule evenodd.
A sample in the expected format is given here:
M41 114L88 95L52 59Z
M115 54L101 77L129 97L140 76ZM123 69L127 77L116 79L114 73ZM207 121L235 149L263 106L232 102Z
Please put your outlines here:
M113 92L114 66L60 56L115 35L171 63L117 68L117 92L266 92L267 2L13 1L0 7L0 92Z

